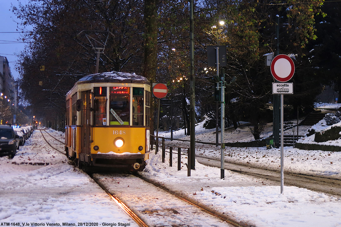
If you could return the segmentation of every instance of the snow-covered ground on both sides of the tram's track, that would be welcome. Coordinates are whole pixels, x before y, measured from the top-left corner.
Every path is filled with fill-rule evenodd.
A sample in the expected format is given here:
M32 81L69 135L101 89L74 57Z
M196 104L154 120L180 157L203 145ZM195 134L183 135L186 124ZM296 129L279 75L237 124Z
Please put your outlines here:
M248 131L246 128L227 131L226 141L232 138L247 140L250 138ZM161 135L169 136L167 132ZM184 137L183 131L174 135ZM63 137L63 134L59 133L59 136ZM212 130L204 130L202 124L196 126L197 139L208 141L212 140L211 137L215 139ZM214 145L205 145L196 152L197 155L220 157L220 148ZM279 149L266 150L265 147L227 147L225 151L226 161L270 169L280 168L279 156ZM284 156L284 171L341 178L340 152L285 147ZM12 164L14 162L49 165ZM94 222L102 226L102 223L137 226L85 173L70 165L65 156L44 145L38 131L20 148L13 160L1 157L0 166L0 223L19 223L20 226L22 223L45 223L46 226L46 223ZM225 179L221 180L219 168L197 162L196 170L187 177L187 168L184 164L182 166L177 171L176 157L173 167L169 167L167 161L161 162L161 152L156 155L151 152L148 165L141 174L219 210L235 221L250 225L341 226L341 198L292 186L285 186L284 193L280 194L278 182L231 171L225 171ZM146 206L157 206L157 202Z

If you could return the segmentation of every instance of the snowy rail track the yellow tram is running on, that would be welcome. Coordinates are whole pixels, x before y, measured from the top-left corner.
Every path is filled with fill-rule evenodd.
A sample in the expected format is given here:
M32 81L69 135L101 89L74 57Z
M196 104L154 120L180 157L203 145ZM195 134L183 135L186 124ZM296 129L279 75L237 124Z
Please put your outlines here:
M48 141L44 136L44 133L42 131L40 132L51 148L65 154L65 152L55 148L53 142ZM61 142L45 130L44 132L51 136L51 138ZM138 176L137 174L115 173L113 175L113 173L96 173L89 175L106 193L108 193L110 198L112 198L119 207L121 207L121 209L123 209L141 227L164 226L160 223L167 223L167 226L242 226L228 220L227 217L215 214L212 210L210 211L203 206L196 205L189 199L177 195L161 185ZM123 188L117 187L122 185ZM124 187L124 185L127 185L127 187ZM131 193L127 193L127 188ZM133 196L133 194L135 195ZM162 202L159 202L161 200ZM150 205L153 204L153 201L158 201L159 204L155 206ZM139 207L136 207L137 203L144 204L147 208L141 211ZM158 219L156 223L155 218ZM191 221L189 218L195 220ZM202 220L200 220L201 218ZM193 222L196 222L196 224Z

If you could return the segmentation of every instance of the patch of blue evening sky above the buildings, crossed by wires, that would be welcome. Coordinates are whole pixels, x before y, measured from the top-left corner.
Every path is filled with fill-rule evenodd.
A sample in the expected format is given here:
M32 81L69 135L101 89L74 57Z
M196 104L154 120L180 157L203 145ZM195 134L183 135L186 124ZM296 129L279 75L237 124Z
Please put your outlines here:
M24 50L25 43L18 41L20 39L20 33L17 32L18 18L12 12L11 3L14 5L18 4L17 0L0 0L0 56L7 57L11 73L14 79L18 79L19 73L15 69L16 63L18 62L15 54ZM20 0L24 3L25 1Z

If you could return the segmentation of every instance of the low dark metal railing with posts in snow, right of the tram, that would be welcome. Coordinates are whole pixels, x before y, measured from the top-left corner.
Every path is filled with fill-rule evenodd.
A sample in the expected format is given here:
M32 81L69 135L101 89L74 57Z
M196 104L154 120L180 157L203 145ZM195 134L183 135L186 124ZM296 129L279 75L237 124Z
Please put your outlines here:
M152 138L155 138L155 140L153 140ZM189 147L184 147L184 146L176 146L176 145L170 145L170 144L166 144L165 143L165 137L161 137L158 136L159 141L156 141L156 136L151 135L150 136L150 145L151 145L151 150L153 150L153 145L155 145L155 154L158 153L159 151L159 144L161 144L162 146L162 163L165 163L165 158L166 158L166 147L169 147L169 166L172 167L173 166L173 154L177 154L178 155L178 171L181 170L181 155L185 155L188 156L188 153L190 152L190 148ZM161 142L160 142L161 139ZM178 152L177 153L173 153L173 148L177 148ZM187 154L181 154L181 149L187 149ZM191 176L191 165L190 165L190 160L189 158L187 158L188 163L185 163L185 165L187 166L187 176L190 177Z

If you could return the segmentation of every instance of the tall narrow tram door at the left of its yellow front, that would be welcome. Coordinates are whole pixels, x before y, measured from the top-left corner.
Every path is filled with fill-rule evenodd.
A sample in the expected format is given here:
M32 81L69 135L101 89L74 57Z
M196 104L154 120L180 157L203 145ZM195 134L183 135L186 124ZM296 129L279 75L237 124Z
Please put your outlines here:
M80 147L80 153L83 154L90 154L90 140L91 140L91 130L90 130L90 124L91 124L91 91L82 91L81 92L81 99L83 101L83 106L81 110L81 135L80 135L80 141L81 141L81 147Z

